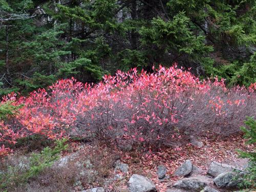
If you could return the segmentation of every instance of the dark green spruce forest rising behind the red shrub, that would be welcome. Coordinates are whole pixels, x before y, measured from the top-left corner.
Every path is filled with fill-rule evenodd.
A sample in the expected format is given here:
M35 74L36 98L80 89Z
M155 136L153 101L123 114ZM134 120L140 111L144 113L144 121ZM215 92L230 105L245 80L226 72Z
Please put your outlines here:
M0 95L161 64L255 82L255 1L0 0Z

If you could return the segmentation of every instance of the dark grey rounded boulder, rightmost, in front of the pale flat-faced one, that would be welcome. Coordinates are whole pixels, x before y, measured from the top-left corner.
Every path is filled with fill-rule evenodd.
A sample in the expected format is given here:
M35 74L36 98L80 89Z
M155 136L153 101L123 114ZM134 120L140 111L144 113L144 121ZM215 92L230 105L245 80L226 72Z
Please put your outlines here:
M233 178L236 177L236 174L233 172L225 172L218 175L214 179L214 183L218 187L235 187L238 184L238 181L233 181Z

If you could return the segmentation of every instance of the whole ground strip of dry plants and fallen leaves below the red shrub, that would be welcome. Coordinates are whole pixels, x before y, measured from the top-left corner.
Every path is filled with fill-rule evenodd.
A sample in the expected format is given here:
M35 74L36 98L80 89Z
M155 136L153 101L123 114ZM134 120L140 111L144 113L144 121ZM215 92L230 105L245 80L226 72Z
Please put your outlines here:
M19 180L20 182L8 185L4 189L7 191L56 192L82 191L83 189L104 187L105 191L129 192L127 182L133 174L138 174L152 180L159 192L166 192L169 187L182 179L182 177L175 176L175 173L187 159L190 159L193 165L201 169L202 175L208 173L210 164L216 161L234 167L237 166L237 163L239 166L244 165L246 161L240 162L242 159L237 158L236 148L252 152L253 146L244 146L245 141L240 136L229 137L228 140L224 141L221 138L216 139L216 141L205 138L202 139L203 147L187 144L180 151L173 147L165 147L161 148L160 152L149 152L139 148L130 152L122 152L96 142L82 145L77 141L70 142L69 148L62 152L62 157L55 161L52 166L45 167L26 182ZM2 165L16 167L14 170L17 170L16 179L18 179L22 176L18 174L20 173L20 162L29 165L28 157L29 154L15 152L3 159L5 161L2 161ZM117 169L117 162L129 165L127 167L128 172ZM165 176L169 179L164 179L164 181L158 179L157 169L159 165L166 167ZM1 170L6 169L1 167ZM194 175L191 174L189 177L194 177ZM210 186L216 188L214 185ZM218 190L233 191L234 189L220 188Z

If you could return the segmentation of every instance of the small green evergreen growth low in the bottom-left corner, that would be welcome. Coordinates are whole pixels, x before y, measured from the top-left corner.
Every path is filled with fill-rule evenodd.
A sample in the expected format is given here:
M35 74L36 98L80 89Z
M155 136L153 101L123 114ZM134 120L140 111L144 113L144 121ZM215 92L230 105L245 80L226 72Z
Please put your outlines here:
M67 139L56 140L53 149L45 147L40 153L32 153L29 158L18 157L16 162L12 159L9 165L8 159L2 159L0 189L9 191L25 185L31 178L51 167L59 158L59 154L67 149L66 141Z

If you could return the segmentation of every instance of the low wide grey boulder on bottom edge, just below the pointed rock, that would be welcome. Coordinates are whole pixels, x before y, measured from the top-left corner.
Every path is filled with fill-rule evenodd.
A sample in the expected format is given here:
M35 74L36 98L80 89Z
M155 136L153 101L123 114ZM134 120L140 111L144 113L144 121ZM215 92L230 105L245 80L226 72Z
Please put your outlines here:
M197 191L210 183L210 179L204 176L190 177L177 181L173 187Z

